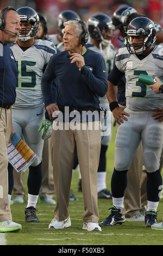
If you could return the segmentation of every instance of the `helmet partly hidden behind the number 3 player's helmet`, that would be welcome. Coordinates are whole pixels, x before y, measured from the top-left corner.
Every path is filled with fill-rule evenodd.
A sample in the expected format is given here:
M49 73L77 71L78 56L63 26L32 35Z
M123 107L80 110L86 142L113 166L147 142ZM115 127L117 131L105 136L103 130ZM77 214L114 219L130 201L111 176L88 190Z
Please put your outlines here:
M127 15L130 13L137 13L137 11L128 5L118 8L112 17L112 23L115 29L120 29L123 32L123 22Z

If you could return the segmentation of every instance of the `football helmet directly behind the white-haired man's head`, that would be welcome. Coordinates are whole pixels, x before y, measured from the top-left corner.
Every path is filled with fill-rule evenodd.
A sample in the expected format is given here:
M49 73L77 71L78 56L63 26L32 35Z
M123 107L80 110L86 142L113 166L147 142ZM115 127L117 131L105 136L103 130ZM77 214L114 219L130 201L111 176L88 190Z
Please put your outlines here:
M80 20L79 15L72 10L66 10L66 11L62 11L62 13L59 14L58 16L58 33L61 35L61 37L63 37L64 35L64 22L68 21L68 20L74 20L74 19L78 19Z

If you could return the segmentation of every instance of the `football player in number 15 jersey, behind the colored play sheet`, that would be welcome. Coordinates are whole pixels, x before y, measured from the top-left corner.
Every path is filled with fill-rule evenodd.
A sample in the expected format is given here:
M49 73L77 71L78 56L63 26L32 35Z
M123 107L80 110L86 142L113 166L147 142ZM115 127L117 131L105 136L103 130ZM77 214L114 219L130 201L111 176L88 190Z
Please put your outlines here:
M45 119L41 78L49 59L57 50L50 41L35 40L39 29L39 16L34 9L21 7L17 9L17 13L21 20L21 31L17 43L11 45L18 68L18 87L16 102L12 108L12 120L15 132L23 137L36 154L34 162L29 166L25 218L26 222L39 222L36 203L41 187L43 140L42 133L37 130ZM13 168L9 165L8 169L10 172Z

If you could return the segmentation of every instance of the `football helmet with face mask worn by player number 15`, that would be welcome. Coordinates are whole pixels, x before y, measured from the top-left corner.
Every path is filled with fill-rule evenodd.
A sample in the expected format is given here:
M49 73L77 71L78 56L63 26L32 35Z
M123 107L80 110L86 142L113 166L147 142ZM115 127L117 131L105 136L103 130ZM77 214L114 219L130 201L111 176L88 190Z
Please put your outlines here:
M27 41L30 38L36 37L39 30L39 15L36 13L36 11L30 7L21 7L16 11L20 16L21 22L28 22L32 24L31 28L22 28L20 30L18 39L21 41Z

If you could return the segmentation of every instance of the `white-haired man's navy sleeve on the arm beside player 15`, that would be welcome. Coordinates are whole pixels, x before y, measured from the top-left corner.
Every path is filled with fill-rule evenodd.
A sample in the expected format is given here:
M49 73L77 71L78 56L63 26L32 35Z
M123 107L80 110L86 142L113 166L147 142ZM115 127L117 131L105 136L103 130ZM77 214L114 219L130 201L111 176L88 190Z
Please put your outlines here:
M41 79L41 89L45 106L55 103L52 82L55 79L54 56L49 59L48 65Z

